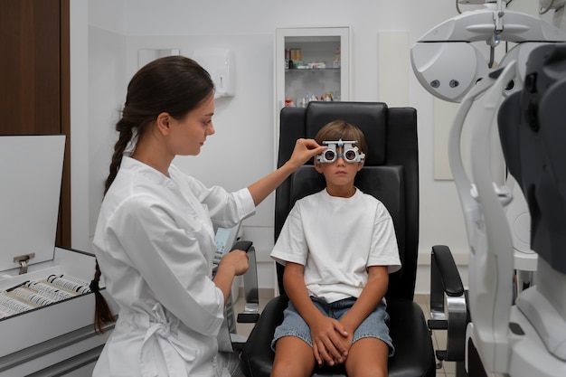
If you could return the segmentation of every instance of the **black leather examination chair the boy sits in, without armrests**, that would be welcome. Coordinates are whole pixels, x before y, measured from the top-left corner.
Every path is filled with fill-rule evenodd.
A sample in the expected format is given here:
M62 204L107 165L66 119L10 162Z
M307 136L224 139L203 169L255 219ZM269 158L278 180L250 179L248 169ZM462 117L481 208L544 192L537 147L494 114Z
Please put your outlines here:
M425 316L413 301L419 243L419 161L417 113L414 108L388 108L384 103L311 102L307 108L283 108L278 165L285 163L299 137L315 137L326 123L344 119L360 127L369 153L355 185L373 194L391 212L402 268L390 275L386 294L391 338L396 353L389 359L391 377L435 376L432 340ZM311 160L279 186L275 203L275 237L297 199L325 187ZM288 297L283 287L284 267L277 264L280 296L269 301L241 353L248 377L269 376L274 359L270 349L283 319ZM345 376L344 366L316 368L314 375Z

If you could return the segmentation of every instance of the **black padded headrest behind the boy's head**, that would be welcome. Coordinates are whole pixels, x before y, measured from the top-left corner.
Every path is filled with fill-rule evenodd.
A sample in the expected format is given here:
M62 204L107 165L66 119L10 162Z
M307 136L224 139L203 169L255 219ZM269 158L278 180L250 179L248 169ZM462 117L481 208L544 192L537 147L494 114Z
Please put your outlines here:
M386 156L387 105L370 102L310 102L305 118L306 137L336 119L359 127L368 146L364 165L383 165Z

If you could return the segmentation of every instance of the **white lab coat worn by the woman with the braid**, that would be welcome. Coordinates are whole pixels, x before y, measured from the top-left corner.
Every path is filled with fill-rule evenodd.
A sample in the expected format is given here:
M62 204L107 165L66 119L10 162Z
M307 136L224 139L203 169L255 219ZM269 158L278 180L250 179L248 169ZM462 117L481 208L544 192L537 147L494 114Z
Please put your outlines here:
M105 196L94 251L118 322L93 376L223 376L216 335L222 291L212 282L212 221L255 212L247 189L206 188L124 156Z

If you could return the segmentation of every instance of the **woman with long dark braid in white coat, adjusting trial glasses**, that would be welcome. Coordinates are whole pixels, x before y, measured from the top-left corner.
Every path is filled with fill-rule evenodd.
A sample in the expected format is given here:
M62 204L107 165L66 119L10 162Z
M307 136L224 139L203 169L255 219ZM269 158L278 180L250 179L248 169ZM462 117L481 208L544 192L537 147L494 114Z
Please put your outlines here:
M229 253L212 279L212 223L230 227L253 214L323 147L297 140L288 163L250 187L207 188L171 162L198 155L214 134L213 93L210 75L180 56L150 62L127 87L93 241L99 268L90 285L98 291L101 270L118 321L94 376L238 374L238 358L218 353L216 335L232 279L248 269L248 258L241 250ZM99 299L100 327L112 315Z

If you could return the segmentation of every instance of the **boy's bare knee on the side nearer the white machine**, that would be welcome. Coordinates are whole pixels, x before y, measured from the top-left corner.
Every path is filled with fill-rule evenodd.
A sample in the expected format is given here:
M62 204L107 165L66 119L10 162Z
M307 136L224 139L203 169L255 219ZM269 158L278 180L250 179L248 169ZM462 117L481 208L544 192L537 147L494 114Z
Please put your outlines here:
M367 337L352 344L346 358L348 377L386 377L389 346L380 339Z

